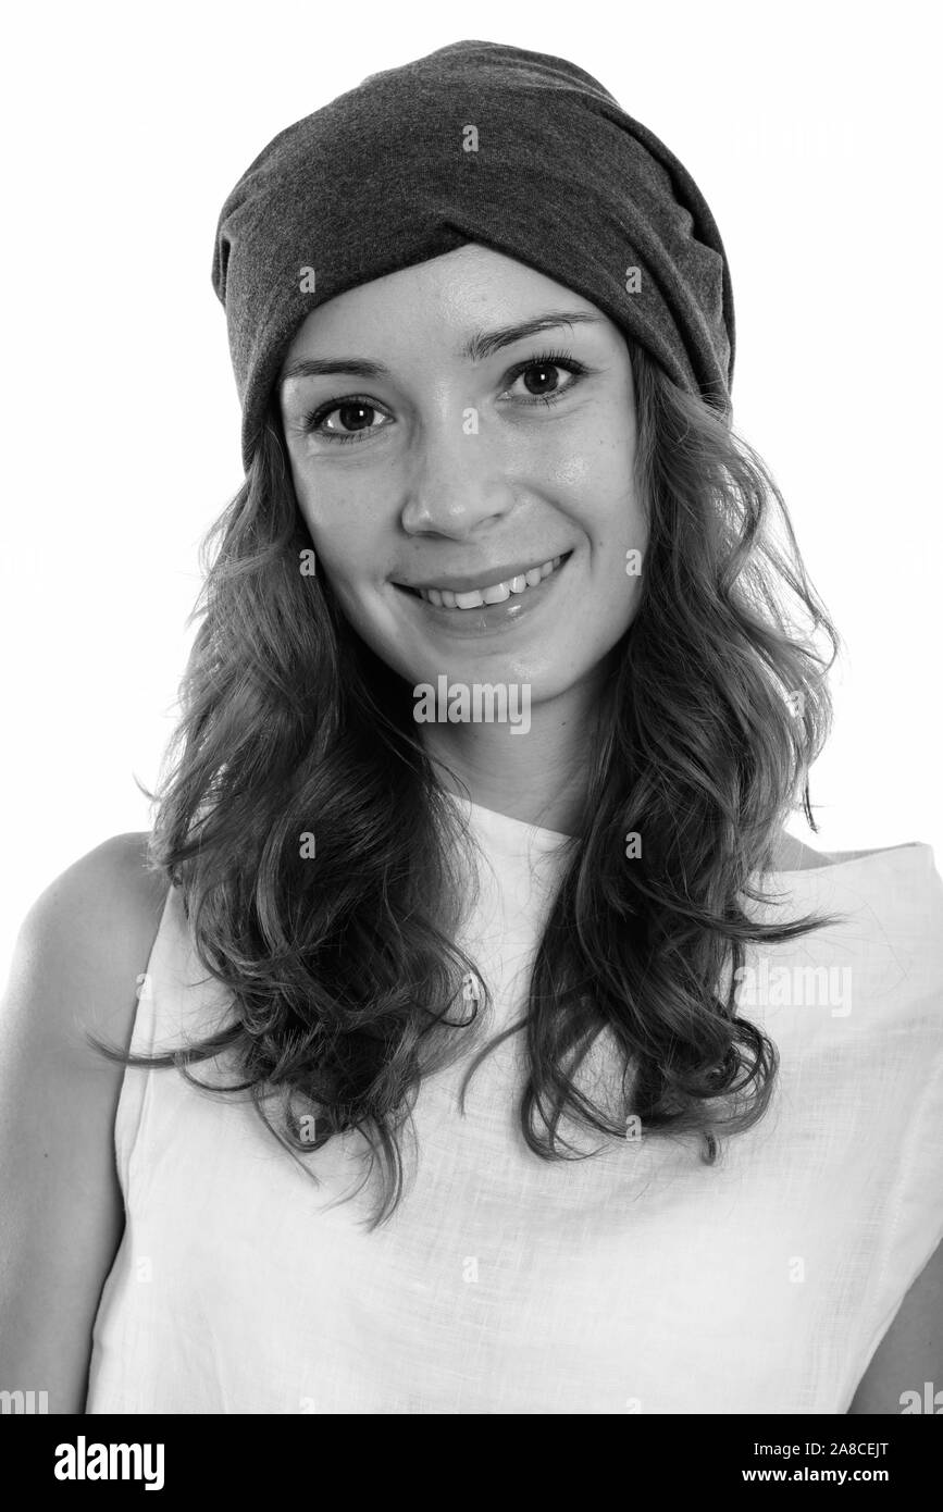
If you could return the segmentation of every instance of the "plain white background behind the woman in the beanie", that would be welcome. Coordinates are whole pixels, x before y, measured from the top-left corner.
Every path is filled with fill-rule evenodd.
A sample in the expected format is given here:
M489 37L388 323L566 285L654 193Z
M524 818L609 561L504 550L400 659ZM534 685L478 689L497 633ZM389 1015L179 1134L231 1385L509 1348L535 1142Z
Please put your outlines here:
M929 5L21 8L3 89L3 898L151 827L199 588L240 484L216 218L283 127L462 38L568 57L724 237L736 428L848 653L821 850L943 847L940 118ZM144 965L142 965L144 969Z

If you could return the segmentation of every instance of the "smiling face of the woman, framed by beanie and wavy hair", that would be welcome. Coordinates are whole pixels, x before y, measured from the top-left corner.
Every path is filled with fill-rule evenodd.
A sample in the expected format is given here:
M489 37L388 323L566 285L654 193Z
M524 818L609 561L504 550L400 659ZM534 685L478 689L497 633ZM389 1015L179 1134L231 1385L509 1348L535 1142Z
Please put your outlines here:
M314 310L280 395L317 573L388 667L592 697L647 540L629 351L595 305L462 246Z

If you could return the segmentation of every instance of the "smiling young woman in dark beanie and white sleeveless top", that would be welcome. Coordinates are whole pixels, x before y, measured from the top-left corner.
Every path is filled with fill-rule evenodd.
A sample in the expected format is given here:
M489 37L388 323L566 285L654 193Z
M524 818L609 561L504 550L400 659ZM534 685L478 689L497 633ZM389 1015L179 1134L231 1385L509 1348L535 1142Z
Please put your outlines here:
M0 1385L908 1411L941 885L783 829L837 638L700 191L582 70L461 42L275 138L215 286L246 479L175 762L3 1012Z

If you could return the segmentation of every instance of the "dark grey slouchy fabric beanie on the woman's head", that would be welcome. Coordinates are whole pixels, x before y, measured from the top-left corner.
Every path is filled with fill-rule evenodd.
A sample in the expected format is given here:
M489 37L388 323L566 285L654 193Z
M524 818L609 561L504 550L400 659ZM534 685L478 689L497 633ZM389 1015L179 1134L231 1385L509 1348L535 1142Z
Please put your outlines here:
M246 469L311 310L470 242L589 299L680 387L728 408L730 269L691 174L574 64L464 41L280 132L228 195L213 287Z

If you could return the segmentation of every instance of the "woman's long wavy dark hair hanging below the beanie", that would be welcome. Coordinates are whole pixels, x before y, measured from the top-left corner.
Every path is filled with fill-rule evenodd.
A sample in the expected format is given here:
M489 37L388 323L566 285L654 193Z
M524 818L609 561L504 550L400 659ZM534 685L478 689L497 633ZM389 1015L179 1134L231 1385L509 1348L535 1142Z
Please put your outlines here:
M536 1155L582 1158L561 1137L564 1114L614 1137L635 1116L648 1139L697 1131L710 1164L719 1136L762 1117L778 1069L775 1045L737 1015L747 947L834 921L760 924L745 903L771 901L762 883L783 821L801 806L816 830L809 768L831 727L825 674L840 643L728 407L679 389L635 342L629 352L648 520L638 612L611 658L526 1002L470 1057L459 1104L482 1058L523 1033L518 1117ZM419 1087L467 1049L490 993L455 939L468 832L419 739L411 689L357 637L329 581L302 573L310 553L272 404L245 484L201 544L181 717L148 794L150 866L181 888L231 1018L160 1055L97 1043L198 1086L190 1067L224 1057L233 1080L212 1090L248 1095L299 1160L358 1129L367 1176L378 1161L382 1173L373 1229L403 1193L400 1132ZM627 862L630 832L642 851ZM606 1030L615 1110L576 1083Z

